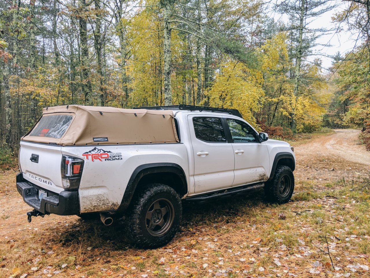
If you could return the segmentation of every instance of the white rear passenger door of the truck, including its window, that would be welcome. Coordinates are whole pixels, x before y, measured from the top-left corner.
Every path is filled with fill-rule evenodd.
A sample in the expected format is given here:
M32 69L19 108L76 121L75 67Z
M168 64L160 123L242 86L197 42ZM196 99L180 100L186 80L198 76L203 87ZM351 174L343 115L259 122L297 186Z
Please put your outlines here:
M234 180L234 152L221 118L188 116L194 156L195 193L227 188Z

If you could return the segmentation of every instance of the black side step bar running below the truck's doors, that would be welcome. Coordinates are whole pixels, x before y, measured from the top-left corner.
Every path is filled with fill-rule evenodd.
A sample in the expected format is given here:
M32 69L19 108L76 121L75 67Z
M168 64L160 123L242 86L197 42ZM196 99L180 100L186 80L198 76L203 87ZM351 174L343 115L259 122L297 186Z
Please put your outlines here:
M223 198L228 198L230 196L245 195L247 192L255 191L265 186L264 182L255 183L253 185L230 188L222 191L211 192L208 194L197 195L194 197L185 198L185 203L207 203Z

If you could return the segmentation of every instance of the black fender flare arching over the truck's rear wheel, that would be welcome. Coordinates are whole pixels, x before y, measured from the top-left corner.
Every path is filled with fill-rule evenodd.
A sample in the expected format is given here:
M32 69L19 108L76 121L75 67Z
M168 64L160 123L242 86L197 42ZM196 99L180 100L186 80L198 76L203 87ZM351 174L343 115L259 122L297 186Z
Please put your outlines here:
M144 176L152 173L174 173L181 180L181 189L182 192L184 192L184 195L188 193L188 183L186 181L186 175L180 165L169 162L143 164L138 166L132 173L127 183L125 193L122 197L121 205L118 207L117 212L124 212L128 208L140 180ZM182 196L180 196L180 198L181 197Z

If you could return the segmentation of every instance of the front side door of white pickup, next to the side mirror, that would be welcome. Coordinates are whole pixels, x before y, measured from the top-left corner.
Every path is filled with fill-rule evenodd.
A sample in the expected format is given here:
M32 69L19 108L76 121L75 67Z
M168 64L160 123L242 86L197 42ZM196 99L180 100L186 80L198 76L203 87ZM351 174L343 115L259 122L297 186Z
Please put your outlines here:
M266 181L269 178L270 158L265 142L259 143L258 134L241 120L226 118L235 156L232 186Z

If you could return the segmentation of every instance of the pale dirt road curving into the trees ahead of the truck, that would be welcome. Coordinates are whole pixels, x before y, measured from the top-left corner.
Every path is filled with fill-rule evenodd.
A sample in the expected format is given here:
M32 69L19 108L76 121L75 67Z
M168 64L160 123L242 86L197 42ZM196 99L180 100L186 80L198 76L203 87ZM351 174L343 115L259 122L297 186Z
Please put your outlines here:
M324 183L369 176L370 152L359 145L359 134L356 129L336 129L308 143L297 143L296 178Z

